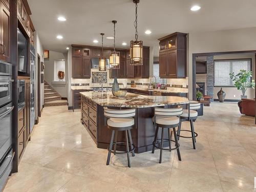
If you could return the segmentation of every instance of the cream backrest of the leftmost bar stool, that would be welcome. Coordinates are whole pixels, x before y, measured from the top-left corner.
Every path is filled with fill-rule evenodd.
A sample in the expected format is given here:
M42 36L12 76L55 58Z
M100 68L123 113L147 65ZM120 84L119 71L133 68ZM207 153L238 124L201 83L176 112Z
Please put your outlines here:
M131 118L135 117L135 109L114 110L104 108L104 116L107 118Z

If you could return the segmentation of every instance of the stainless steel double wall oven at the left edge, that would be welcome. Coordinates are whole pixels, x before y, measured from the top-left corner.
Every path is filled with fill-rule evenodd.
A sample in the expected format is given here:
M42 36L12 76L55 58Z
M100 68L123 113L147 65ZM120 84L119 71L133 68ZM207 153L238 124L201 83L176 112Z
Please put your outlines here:
M12 66L0 60L0 190L12 170Z

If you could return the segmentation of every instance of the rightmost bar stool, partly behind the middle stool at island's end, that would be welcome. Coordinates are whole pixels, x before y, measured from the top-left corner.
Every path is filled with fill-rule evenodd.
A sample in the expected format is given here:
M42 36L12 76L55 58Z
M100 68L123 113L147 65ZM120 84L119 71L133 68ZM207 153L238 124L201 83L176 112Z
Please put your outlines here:
M179 124L179 127L178 127L178 132L177 132L178 140L180 139L180 137L192 138L194 150L196 149L196 142L197 142L196 141L196 137L198 136L198 134L195 132L193 120L197 119L198 113L197 113L196 110L200 109L200 104L201 104L200 102L189 100L188 109L187 110L183 110L183 113L180 116L181 121L180 121L180 124ZM189 130L181 130L181 122L182 121L189 121L190 122L190 129L191 129L191 131L189 131ZM181 131L191 132L191 137L181 136L180 135Z

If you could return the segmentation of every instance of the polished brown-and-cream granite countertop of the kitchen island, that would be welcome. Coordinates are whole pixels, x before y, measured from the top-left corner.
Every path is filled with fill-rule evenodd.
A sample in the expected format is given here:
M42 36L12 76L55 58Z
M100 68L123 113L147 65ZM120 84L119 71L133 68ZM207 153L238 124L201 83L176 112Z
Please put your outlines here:
M154 106L186 104L188 99L175 96L148 96L127 93L125 97L118 98L108 92L80 92L81 95L93 100L102 106L118 106L126 108L150 108Z

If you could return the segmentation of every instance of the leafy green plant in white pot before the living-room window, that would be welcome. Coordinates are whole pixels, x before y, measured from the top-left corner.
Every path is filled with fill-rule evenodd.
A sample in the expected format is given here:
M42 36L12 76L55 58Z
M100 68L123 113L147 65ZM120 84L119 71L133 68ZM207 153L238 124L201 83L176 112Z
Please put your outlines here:
M246 71L246 70L240 70L240 72L237 75L234 75L233 73L229 73L230 79L234 81L234 87L238 88L238 90L242 91L241 99L247 98L247 95L245 95L245 92L248 88L255 87L255 82L252 79L252 72Z

